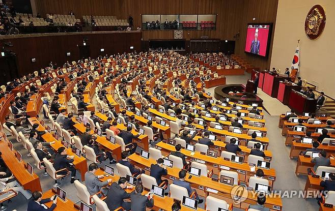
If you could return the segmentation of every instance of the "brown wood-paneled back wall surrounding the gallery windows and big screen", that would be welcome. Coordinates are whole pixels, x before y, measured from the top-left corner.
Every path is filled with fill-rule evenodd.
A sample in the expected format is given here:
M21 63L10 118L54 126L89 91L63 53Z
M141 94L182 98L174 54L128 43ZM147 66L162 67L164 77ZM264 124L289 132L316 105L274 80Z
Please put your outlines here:
M244 53L246 25L252 22L276 20L278 0L35 0L41 14L67 14L73 10L77 17L82 15L116 15L127 19L131 14L134 26L141 25L142 14L217 14L215 31L184 31L184 39L218 38L236 40L235 53L262 69L269 68L272 41L268 58ZM256 20L253 20L253 18ZM272 39L274 28L272 32ZM173 39L173 31L143 31L143 40Z

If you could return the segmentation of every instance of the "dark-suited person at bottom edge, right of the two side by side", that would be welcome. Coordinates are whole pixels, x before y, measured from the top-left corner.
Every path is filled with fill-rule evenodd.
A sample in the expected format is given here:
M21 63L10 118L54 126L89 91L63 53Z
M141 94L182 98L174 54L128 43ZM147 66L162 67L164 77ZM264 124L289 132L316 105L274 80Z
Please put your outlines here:
M146 211L147 207L154 206L153 193L148 192L146 195L142 195L143 190L143 185L137 184L135 194L130 195L130 209L132 211Z

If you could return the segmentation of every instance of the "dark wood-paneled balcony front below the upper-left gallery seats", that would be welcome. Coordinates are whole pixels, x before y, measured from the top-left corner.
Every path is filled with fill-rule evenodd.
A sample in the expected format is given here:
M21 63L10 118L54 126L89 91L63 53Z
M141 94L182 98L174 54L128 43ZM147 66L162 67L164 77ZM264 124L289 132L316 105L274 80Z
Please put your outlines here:
M5 39L12 42L11 49L17 55L18 73L20 76L46 67L50 61L62 66L66 61L78 61L79 46L83 45L83 39L87 39L86 45L90 46L92 58L99 55L110 55L122 52L141 51L141 32L106 32L106 33L59 33L39 35L19 35L17 38ZM104 52L100 49L104 48ZM71 55L67 56L67 52ZM32 63L31 58L36 62Z

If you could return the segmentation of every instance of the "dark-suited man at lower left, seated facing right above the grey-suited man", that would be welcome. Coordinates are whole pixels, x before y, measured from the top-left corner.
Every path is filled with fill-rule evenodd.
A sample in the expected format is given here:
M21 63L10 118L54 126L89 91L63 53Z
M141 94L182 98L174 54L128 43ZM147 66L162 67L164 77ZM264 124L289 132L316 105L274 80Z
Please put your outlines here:
M67 170L71 171L71 184L74 183L76 169L73 166L73 158L74 156L68 156L64 146L58 148L58 154L55 156L53 160L53 167L56 171L66 168ZM67 171L60 171L58 174L67 174Z

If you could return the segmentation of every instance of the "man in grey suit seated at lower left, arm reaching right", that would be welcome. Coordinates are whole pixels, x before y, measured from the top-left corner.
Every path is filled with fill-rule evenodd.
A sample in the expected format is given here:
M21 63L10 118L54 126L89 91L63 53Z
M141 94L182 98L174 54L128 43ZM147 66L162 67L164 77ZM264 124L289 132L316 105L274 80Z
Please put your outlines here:
M99 176L96 176L94 173L99 168L99 166L96 163L91 163L89 165L89 171L85 173L85 185L87 187L88 192L90 195L94 195L101 191L105 196L108 193L107 188L103 188L104 186L107 186L108 183L111 182L111 178L105 180L104 182L101 182L99 180Z

